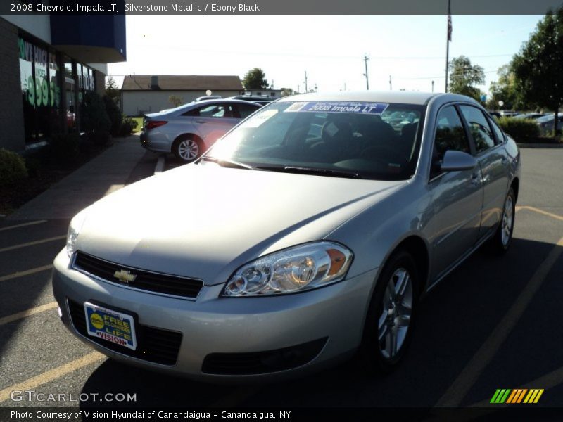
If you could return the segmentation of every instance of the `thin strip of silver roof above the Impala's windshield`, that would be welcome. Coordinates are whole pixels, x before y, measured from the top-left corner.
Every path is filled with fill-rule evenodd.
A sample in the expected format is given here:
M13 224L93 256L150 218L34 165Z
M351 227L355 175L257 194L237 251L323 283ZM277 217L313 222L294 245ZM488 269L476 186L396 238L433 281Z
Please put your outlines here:
M367 101L377 103L403 103L424 106L433 98L440 97L442 101L471 101L472 98L458 94L441 94L431 92L409 91L346 91L346 92L312 92L310 94L296 94L285 96L278 101Z

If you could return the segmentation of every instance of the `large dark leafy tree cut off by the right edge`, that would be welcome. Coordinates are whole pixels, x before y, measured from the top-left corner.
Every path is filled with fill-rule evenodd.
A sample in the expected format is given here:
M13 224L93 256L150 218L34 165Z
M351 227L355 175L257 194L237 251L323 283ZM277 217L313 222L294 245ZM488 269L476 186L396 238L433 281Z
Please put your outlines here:
M540 20L512 58L512 70L527 103L555 112L553 133L557 134L557 114L563 105L563 6Z

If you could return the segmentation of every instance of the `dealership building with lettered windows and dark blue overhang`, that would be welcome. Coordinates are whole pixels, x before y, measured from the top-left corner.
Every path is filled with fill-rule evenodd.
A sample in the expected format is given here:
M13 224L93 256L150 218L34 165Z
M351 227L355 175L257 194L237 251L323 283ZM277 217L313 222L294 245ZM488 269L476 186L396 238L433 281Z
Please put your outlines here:
M0 148L80 132L84 93L103 94L107 63L126 56L125 15L1 16Z

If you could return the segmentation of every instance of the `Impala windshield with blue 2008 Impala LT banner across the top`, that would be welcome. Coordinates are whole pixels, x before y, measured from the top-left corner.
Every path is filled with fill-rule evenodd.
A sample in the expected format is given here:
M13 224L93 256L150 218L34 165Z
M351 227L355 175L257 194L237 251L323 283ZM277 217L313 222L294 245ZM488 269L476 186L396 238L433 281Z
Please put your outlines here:
M424 109L398 103L272 103L218 141L203 162L334 177L410 179Z

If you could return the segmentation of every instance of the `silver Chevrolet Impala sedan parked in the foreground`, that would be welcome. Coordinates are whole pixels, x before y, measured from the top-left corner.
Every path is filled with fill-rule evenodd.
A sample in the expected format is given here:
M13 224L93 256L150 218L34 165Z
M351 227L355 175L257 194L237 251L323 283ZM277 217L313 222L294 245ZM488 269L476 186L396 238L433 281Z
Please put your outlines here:
M419 298L477 248L509 248L520 167L465 96L281 98L76 215L61 318L118 361L208 381L354 355L391 371Z

